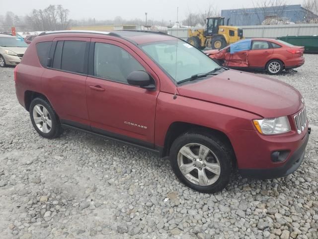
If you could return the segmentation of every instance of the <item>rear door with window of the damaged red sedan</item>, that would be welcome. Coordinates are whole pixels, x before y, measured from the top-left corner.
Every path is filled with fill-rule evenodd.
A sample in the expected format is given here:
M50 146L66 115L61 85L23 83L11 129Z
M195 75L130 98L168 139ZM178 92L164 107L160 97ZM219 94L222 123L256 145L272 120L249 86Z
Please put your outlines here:
M249 68L265 68L266 63L271 59L273 49L268 41L252 41L251 50L247 52Z

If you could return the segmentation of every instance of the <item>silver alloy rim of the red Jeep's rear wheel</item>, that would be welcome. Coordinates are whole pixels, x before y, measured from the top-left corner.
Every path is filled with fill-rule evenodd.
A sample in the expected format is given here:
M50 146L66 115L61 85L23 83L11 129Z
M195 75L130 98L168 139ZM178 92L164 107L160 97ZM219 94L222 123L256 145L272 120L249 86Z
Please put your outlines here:
M43 133L49 133L52 129L52 120L48 110L44 106L38 104L33 107L32 114L38 129Z

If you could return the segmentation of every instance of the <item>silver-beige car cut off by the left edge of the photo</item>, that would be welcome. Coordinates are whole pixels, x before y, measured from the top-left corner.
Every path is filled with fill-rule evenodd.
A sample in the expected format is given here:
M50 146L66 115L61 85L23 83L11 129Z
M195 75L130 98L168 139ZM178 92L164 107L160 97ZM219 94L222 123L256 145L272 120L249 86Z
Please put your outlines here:
M19 64L27 47L18 37L0 34L0 67Z

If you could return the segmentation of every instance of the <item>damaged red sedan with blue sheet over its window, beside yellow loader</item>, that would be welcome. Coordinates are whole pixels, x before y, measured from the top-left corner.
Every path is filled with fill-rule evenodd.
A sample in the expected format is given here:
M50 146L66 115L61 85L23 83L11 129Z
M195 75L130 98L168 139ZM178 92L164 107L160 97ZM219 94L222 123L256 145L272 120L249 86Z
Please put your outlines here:
M205 53L223 66L266 70L271 75L305 63L304 47L268 38L244 39L221 50L208 50Z

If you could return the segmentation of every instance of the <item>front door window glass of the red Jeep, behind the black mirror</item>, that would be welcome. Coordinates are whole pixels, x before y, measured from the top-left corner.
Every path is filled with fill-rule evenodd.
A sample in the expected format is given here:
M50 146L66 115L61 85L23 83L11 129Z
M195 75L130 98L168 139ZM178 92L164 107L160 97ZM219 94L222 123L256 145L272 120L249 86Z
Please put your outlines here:
M107 43L95 43L94 76L127 84L127 76L145 68L126 50Z

